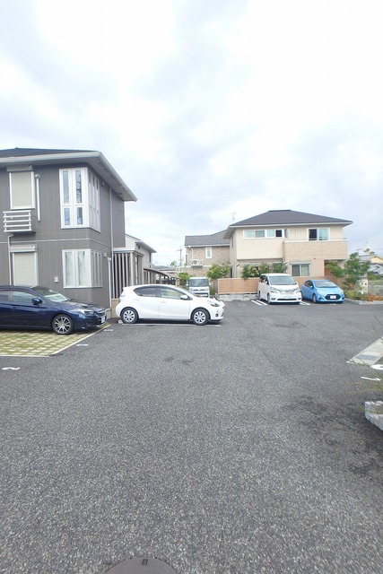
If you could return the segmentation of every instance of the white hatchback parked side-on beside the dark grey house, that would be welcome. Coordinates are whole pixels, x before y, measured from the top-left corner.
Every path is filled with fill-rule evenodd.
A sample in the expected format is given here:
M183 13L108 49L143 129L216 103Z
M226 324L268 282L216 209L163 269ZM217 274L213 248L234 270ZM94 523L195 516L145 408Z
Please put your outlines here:
M139 319L192 321L205 325L222 320L224 303L163 284L132 285L125 287L116 306L116 315L123 323Z

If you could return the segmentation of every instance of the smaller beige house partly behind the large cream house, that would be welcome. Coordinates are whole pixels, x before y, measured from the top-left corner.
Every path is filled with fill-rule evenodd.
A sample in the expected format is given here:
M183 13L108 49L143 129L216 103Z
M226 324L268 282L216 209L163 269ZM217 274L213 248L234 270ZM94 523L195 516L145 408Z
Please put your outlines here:
M230 239L226 230L213 235L187 235L185 237L187 273L204 277L213 263L223 265L230 259Z

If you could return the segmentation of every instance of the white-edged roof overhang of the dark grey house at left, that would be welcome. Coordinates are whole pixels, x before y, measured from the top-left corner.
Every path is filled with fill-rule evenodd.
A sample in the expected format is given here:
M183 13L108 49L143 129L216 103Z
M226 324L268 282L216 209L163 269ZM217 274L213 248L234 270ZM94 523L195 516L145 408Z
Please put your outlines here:
M118 172L101 152L53 152L0 158L1 167L31 165L34 170L43 165L83 165L87 163L123 201L137 201Z

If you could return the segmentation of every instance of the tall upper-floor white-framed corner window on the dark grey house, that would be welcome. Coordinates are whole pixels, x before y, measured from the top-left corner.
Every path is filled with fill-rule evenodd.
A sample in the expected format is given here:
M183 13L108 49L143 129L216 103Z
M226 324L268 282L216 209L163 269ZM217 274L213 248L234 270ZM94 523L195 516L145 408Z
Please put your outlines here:
M60 170L61 227L100 231L100 183L90 170Z

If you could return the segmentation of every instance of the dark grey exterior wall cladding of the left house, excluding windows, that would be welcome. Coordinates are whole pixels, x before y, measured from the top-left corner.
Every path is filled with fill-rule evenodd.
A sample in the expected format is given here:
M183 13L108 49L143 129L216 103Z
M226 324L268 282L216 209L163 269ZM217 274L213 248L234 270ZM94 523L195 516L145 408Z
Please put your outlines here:
M32 209L35 232L4 232L0 226L0 283L10 283L8 241L14 247L36 246L38 257L38 283L68 297L93 301L105 308L110 304L109 266L113 248L125 245L125 202L106 184L100 187L100 232L91 228L61 229L59 169L80 167L65 164L60 166L34 167L39 174L40 221L37 221L37 209ZM86 162L81 167L88 167ZM102 176L95 173L100 182ZM11 210L9 174L0 170L0 212ZM92 249L100 252L102 267L102 286L91 288L65 289L63 283L63 249Z

